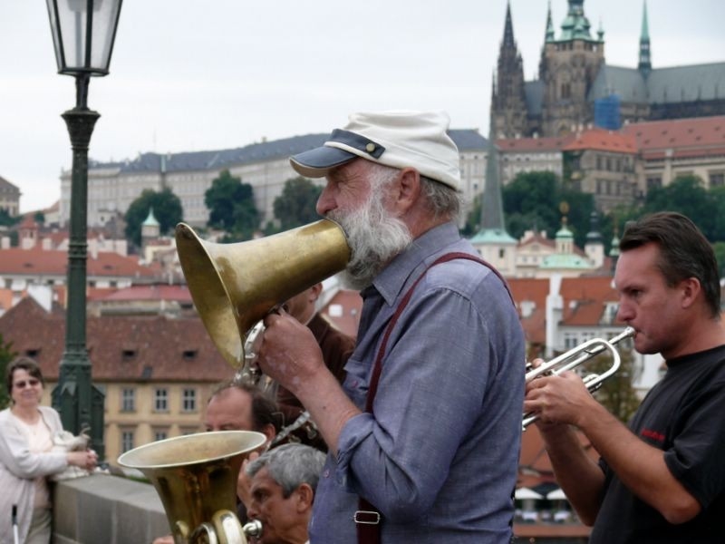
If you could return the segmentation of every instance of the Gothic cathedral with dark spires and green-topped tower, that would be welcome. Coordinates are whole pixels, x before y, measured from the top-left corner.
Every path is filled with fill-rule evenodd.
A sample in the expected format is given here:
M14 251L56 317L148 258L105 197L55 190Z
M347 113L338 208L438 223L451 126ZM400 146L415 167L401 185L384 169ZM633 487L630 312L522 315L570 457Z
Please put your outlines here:
M549 6L538 78L526 81L507 5L491 90L496 139L559 137L592 125L617 130L627 122L725 113L725 63L652 65L646 5L637 61L635 68L607 64L604 29L593 34L584 0L568 0L558 37Z

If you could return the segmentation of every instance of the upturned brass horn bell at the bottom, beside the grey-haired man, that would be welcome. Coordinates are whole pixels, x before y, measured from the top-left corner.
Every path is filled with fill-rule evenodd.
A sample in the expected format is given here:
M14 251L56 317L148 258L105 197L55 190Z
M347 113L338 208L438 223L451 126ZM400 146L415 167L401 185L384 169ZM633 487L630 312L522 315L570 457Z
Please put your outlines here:
M243 528L237 520L237 478L242 462L265 442L261 432L199 432L151 442L118 461L151 481L176 544L247 544L261 524Z

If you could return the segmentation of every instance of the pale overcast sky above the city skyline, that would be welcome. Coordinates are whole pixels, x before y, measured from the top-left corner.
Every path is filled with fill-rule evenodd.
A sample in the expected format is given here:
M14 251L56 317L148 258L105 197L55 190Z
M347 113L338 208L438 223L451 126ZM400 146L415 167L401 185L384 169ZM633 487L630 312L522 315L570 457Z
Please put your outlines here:
M510 0L533 79L546 0ZM556 37L568 3L551 0ZM642 0L586 0L606 61L637 63ZM652 65L725 61L723 0L649 0ZM488 134L506 0L125 0L111 73L92 78L93 160L243 147L341 127L363 110L443 109ZM0 177L21 211L60 198L73 77L42 0L0 0Z

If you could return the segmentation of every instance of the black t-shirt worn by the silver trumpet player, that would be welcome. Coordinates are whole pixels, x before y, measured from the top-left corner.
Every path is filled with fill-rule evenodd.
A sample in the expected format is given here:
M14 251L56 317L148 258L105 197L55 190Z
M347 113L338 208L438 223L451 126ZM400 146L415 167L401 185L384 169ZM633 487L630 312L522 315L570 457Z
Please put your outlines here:
M629 427L662 450L674 477L701 504L694 519L672 525L639 500L600 461L604 501L590 544L725 542L725 345L667 363Z

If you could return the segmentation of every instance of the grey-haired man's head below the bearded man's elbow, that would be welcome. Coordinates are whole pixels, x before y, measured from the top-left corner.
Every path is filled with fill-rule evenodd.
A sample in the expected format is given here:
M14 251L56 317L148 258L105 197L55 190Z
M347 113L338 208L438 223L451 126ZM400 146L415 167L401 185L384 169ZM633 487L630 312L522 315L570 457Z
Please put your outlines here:
M247 465L250 520L262 522L257 544L304 544L324 453L305 444L283 444Z

